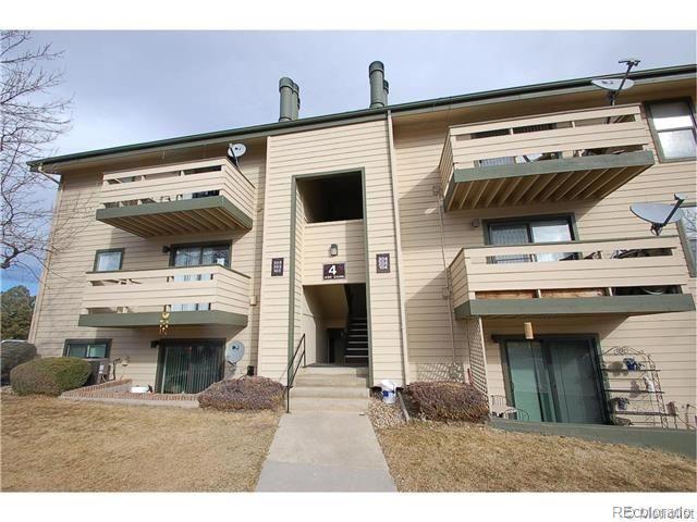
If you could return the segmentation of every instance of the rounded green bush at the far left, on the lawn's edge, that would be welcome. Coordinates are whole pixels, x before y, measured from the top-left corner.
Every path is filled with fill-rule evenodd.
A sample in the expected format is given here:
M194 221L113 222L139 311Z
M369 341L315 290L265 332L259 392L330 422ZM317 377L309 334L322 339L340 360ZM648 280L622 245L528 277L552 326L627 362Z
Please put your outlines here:
M10 372L17 395L61 395L83 386L91 373L89 362L75 357L49 357L20 364Z

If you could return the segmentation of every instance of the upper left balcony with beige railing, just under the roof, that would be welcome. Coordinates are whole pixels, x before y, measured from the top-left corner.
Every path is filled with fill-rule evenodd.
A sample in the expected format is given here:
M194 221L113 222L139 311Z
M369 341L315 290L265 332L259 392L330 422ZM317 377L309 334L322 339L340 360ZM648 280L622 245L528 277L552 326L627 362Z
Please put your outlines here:
M248 229L254 192L227 158L106 173L97 220L140 237Z

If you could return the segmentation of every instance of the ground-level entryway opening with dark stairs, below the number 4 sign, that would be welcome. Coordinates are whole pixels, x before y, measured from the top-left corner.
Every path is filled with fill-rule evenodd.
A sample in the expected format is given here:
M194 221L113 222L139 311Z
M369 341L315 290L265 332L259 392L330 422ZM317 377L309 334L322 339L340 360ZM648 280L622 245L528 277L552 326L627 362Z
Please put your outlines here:
M307 364L367 366L366 285L304 286L303 333Z

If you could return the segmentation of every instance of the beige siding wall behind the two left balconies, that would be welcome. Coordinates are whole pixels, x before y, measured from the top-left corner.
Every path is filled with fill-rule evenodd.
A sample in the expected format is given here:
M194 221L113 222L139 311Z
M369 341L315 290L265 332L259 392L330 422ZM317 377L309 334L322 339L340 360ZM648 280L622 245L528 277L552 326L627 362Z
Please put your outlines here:
M244 174L257 187L256 198L264 197L265 162L262 151L245 156ZM123 271L167 268L169 253L162 246L183 243L231 239L232 268L249 275L249 294L258 296L261 250L262 213L254 216L252 231L234 229L223 234L163 236L140 238L95 220L101 172L74 172L63 176L58 217L56 221L57 251L44 274L41 307L33 323L33 339L44 357L61 356L65 339L110 338L111 358L130 358L127 366L119 366L117 375L133 378L137 384L155 384L157 349L150 341L160 338L158 328L93 328L77 326L87 285L86 273L93 270L95 251L124 248ZM258 203L255 202L255 207ZM247 364L256 364L258 341L258 307L247 307L248 326L184 327L170 326L169 338L210 337L242 340L247 348L237 364L244 372Z

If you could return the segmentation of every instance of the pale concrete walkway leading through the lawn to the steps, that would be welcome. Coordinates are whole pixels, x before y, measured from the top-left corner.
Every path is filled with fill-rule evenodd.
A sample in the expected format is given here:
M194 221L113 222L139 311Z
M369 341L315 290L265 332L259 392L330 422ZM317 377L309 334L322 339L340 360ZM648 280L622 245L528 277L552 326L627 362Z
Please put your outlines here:
M367 417L357 412L284 414L257 492L395 492Z

